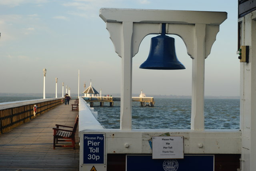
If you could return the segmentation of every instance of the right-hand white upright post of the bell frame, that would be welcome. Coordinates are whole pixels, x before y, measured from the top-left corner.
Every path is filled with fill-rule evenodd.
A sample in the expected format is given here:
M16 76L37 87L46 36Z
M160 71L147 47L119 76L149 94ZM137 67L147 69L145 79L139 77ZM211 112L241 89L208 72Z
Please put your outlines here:
M195 26L194 59L192 60L191 129L204 130L204 59L206 24Z

